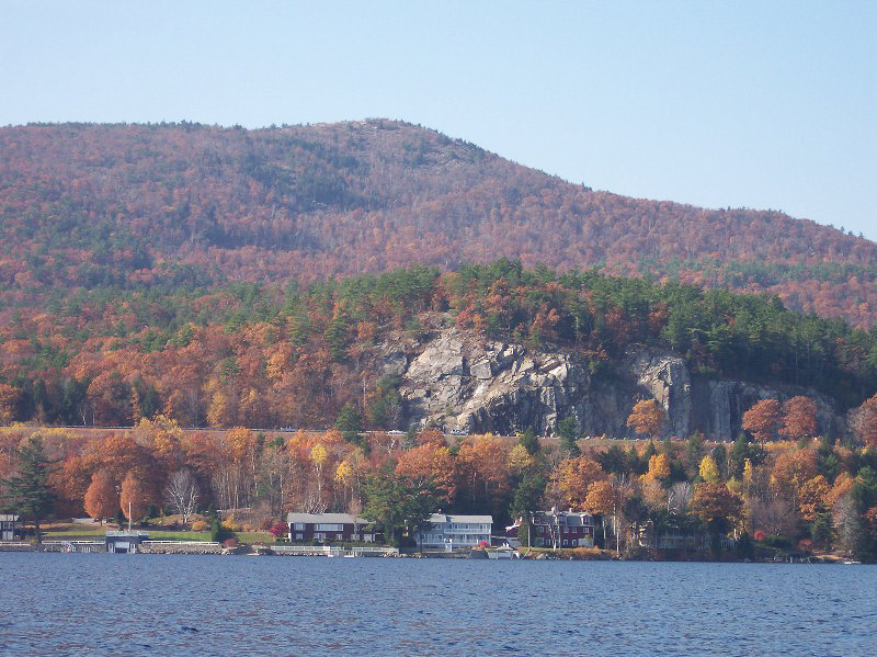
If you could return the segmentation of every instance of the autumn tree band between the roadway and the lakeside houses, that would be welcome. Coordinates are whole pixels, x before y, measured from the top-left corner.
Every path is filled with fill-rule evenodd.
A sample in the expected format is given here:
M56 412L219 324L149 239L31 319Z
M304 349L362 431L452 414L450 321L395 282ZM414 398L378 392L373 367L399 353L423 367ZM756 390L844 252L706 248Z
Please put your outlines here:
M665 554L671 536L677 555L701 554L707 539L715 556L727 556L724 539L733 537L740 558L753 557L754 539L762 555L816 550L877 559L877 435L863 450L815 441L795 428L796 412L786 409L784 434L798 442L741 435L727 446L699 435L592 448L574 435L558 443L529 432L451 443L437 431L184 432L161 416L101 438L4 429L0 509L32 519L122 511L134 522L167 513L184 526L195 511L223 509L226 525L243 531L276 529L289 510L348 511L398 544L440 508L490 513L494 530L517 519L526 541L529 514L557 507L596 514L597 545L628 554ZM36 487L23 485L36 478L31 472L39 474ZM31 498L37 490L41 505L27 506L24 490ZM561 536L532 536L569 546Z

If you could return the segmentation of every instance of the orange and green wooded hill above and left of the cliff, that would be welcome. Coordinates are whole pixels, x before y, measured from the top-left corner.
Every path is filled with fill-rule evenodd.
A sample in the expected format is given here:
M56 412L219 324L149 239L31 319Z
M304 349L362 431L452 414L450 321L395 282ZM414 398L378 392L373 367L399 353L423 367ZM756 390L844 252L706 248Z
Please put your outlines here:
M101 288L0 317L0 415L43 423L162 412L187 427L326 427L348 406L363 427L403 429L398 381L379 377L375 348L451 325L573 352L596 376L645 344L703 376L810 387L843 409L877 392L877 329L776 297L504 259L283 286Z

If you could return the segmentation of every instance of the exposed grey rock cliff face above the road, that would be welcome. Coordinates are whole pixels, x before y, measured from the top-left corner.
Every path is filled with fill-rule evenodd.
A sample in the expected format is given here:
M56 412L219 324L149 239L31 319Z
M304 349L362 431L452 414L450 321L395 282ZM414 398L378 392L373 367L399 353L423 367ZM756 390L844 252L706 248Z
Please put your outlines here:
M597 375L578 358L534 352L521 344L481 340L457 329L408 350L385 346L384 371L401 377L409 421L445 431L513 433L532 427L556 432L574 418L584 434L633 437L626 426L634 404L656 399L668 412L668 432L730 441L755 401L781 401L805 393L738 381L693 377L685 361L651 350L629 352L611 375ZM840 428L834 403L808 393L819 407L820 429Z

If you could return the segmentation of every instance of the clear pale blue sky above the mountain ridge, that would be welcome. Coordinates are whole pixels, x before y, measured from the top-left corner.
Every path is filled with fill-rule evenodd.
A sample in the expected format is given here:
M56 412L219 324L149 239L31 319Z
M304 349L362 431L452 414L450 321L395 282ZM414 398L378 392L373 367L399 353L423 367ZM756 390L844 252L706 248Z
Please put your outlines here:
M877 239L875 0L133 4L0 0L0 124L402 118Z

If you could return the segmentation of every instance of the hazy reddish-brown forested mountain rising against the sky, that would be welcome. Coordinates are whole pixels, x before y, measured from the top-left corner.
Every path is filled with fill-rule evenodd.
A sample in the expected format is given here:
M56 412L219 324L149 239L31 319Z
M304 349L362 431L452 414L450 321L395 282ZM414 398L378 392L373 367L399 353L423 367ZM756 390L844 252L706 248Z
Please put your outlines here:
M588 157L583 154L583 157ZM779 212L594 192L390 121L0 128L0 303L498 257L877 320L877 245Z

